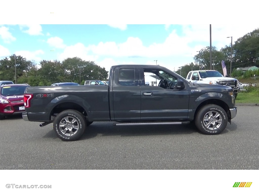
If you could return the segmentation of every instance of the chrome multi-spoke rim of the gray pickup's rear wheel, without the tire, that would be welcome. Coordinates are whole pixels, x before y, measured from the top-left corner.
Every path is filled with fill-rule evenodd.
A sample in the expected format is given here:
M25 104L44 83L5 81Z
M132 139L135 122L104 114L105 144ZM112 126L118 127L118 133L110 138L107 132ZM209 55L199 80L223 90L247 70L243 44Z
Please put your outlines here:
M75 135L78 131L79 125L78 121L74 117L64 117L59 123L59 129L61 133L67 136Z

